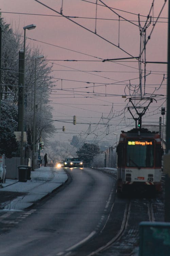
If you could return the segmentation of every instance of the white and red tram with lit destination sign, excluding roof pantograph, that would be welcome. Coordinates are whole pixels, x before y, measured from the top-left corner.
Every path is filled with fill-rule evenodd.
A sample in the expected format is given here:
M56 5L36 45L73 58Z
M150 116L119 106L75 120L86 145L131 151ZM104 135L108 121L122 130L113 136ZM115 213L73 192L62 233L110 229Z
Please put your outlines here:
M117 190L161 191L163 149L160 135L148 129L122 131L117 146Z

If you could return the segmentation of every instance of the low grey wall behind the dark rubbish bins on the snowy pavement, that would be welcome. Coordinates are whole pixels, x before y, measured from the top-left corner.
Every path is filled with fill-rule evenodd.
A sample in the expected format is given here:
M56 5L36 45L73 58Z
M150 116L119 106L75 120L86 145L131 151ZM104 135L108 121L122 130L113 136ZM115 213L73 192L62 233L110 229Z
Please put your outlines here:
M24 159L24 165L28 165L29 159ZM20 157L5 158L6 179L18 180L18 166Z

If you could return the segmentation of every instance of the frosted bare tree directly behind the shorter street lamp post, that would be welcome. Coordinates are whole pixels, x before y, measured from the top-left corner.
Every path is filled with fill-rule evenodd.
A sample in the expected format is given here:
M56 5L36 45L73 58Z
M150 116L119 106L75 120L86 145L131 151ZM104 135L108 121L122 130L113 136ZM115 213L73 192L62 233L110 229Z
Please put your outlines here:
M34 93L35 93L35 142L39 142L40 138L47 143L47 138L50 138L55 132L52 123L52 108L49 105L49 97L54 82L52 80L51 68L48 62L44 59L37 59L42 55L38 48L26 50L26 79L25 79L25 94L26 94L26 113L25 123L27 127L28 142L33 146L33 118L34 118ZM35 75L36 72L36 75ZM48 117L48 118L47 118Z

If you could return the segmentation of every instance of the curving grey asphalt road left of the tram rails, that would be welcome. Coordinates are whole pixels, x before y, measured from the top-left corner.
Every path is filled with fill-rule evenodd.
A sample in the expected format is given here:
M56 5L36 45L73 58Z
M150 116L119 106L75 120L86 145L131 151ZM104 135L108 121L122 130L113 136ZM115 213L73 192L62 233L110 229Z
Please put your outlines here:
M1 255L57 256L94 237L107 223L115 180L88 168L67 169L69 181L1 234Z

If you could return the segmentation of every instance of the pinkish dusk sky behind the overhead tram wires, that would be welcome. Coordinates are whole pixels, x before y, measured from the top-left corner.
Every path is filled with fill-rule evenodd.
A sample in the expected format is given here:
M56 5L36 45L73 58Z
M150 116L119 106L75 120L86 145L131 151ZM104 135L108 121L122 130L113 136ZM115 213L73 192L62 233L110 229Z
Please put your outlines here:
M157 101L149 106L143 124L158 125L161 107L166 106L167 65L147 63L145 82L142 63L139 87L137 59L120 59L139 56L139 20L143 27L150 14L146 61L167 61L168 1L98 0L96 5L96 0L1 0L0 9L6 23L21 34L24 26L36 25L27 30L26 44L38 46L53 63L53 119L66 122L54 121L57 129L66 129L57 130L55 139L67 141L78 135L82 142L114 144L114 133L135 127L128 98L139 97L140 92Z

